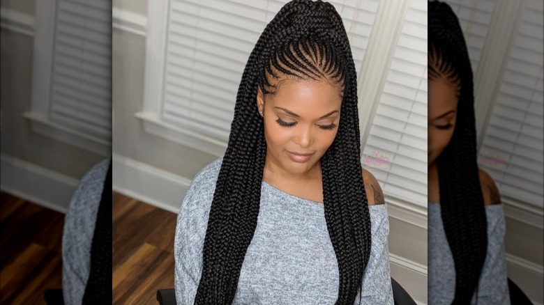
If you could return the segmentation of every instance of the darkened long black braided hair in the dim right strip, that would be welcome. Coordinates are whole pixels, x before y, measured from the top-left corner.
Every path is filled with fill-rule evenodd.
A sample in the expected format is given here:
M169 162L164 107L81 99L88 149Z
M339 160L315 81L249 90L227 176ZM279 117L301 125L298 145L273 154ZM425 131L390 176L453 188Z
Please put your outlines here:
M455 263L453 304L469 304L488 247L487 219L476 162L474 85L458 18L446 3L428 3L428 78L459 86L455 130L437 158L441 217Z

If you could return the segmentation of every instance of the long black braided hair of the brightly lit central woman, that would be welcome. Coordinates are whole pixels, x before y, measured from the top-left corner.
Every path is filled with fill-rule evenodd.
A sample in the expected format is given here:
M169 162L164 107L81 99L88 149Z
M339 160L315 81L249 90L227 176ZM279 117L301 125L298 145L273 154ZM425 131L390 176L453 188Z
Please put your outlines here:
M257 89L280 79L342 85L338 132L321 158L324 216L339 269L336 304L354 304L370 256L370 213L361 168L356 70L340 15L330 3L294 0L266 26L236 96L229 143L211 204L195 304L230 304L257 227L266 157Z

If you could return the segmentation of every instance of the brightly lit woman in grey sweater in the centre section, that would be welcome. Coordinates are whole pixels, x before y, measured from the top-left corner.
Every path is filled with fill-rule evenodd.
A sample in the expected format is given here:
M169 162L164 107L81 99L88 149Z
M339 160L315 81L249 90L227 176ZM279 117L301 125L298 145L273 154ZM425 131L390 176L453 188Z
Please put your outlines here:
M225 156L181 205L177 302L393 304L383 203L342 19L291 1L250 54Z

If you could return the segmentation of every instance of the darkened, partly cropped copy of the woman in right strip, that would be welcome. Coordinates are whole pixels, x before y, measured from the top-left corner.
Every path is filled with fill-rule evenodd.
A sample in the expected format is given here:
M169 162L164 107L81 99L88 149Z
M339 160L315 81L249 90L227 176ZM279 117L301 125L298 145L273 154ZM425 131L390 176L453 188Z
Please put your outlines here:
M446 3L428 14L429 304L509 304L499 191L476 163L467 46Z

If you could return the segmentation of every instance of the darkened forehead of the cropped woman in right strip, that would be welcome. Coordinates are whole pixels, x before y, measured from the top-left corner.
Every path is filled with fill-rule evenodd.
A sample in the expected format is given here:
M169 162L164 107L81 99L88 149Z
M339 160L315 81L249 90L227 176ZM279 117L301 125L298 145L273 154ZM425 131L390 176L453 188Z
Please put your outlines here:
M428 114L435 118L444 112L457 109L459 86L442 78L429 80Z

